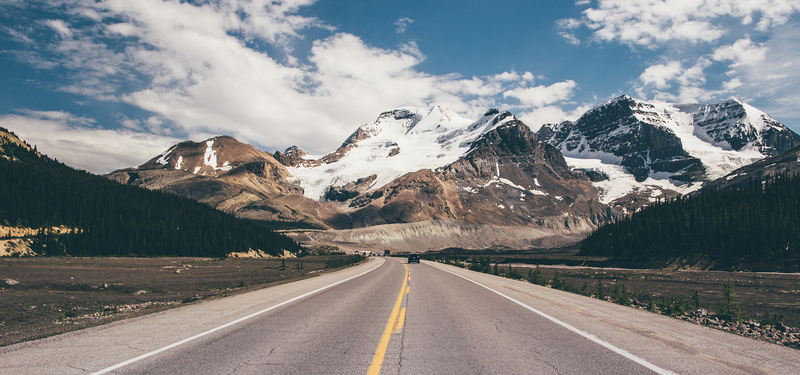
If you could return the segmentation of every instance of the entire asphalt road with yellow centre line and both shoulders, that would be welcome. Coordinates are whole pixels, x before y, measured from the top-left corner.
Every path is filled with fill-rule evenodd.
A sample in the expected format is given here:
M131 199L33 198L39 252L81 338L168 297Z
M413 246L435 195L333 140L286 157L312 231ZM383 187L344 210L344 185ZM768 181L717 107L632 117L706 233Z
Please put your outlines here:
M344 271L0 348L2 374L800 373L800 351L435 263Z

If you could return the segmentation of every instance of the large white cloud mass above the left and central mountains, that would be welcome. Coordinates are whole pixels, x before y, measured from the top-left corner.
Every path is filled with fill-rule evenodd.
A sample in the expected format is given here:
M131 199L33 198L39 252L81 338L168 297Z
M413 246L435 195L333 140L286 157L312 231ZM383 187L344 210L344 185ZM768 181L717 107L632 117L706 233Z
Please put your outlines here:
M227 134L267 150L297 144L312 153L328 152L359 124L402 105L439 104L477 118L490 107L508 107L503 99L510 98L522 112L563 117L556 105L577 88L571 80L529 87L544 78L528 71L479 77L424 73L418 66L425 56L413 42L376 48L355 35L332 33L294 43L304 37L303 29L333 30L297 14L312 2L76 1L65 17L80 22L69 23L71 29L67 23L47 26L63 25L72 38L38 42L43 43L35 55L39 66L58 64L70 72L63 91L150 114L117 115L119 130L80 123L69 114L27 112L3 121L38 129L27 133L31 142L71 165L98 171L101 165L137 165L177 136L202 140ZM261 48L265 43L271 48ZM296 53L302 59L293 56L306 44L311 48ZM118 155L106 164L108 155L128 148L120 140L126 137L141 155ZM156 151L134 142L143 137L163 146ZM95 156L81 160L77 147Z

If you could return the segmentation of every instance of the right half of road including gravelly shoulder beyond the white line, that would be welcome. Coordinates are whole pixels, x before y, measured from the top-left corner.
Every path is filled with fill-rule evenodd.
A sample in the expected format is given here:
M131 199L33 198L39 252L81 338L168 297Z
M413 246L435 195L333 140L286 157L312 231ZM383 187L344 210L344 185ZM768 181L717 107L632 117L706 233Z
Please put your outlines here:
M409 268L387 373L800 373L798 350L452 266Z

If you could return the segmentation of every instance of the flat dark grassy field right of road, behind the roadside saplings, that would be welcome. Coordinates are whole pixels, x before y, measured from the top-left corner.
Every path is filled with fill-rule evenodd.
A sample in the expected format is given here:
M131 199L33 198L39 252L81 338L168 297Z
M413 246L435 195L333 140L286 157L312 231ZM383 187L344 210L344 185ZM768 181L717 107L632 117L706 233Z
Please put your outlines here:
M542 277L551 283L556 275L576 292L597 296L602 283L606 296L619 286L636 301L656 300L685 311L696 307L716 312L723 302L723 285L731 280L742 320L774 320L800 327L800 274L771 272L725 272L699 270L656 270L609 268L605 258L577 257L572 253L485 252L426 253L425 258L445 263L468 263L474 257L491 257L499 264L499 273L508 276L509 265L518 277L527 278L538 266ZM462 263L463 264L463 263ZM490 273L493 270L490 271ZM695 291L697 293L695 294ZM696 299L699 304L696 305Z

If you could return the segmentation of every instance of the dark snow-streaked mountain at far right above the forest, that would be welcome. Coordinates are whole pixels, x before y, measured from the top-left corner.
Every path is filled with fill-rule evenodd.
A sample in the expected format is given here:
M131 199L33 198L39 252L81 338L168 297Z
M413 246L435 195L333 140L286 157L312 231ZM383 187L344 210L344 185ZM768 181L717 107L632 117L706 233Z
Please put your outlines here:
M638 197L628 208L665 192L695 191L800 145L796 133L737 100L676 105L620 96L574 123L544 125L538 135L595 177L604 203Z

